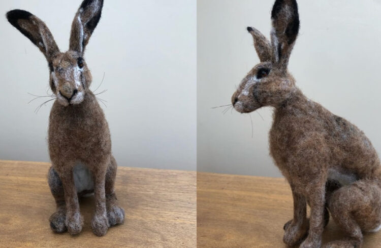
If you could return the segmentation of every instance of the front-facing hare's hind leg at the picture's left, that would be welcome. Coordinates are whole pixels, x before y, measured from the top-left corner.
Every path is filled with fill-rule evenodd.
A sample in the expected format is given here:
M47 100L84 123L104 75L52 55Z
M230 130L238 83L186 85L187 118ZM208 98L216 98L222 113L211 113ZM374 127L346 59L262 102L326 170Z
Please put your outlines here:
M66 232L66 204L65 194L63 193L62 181L59 179L57 172L50 167L48 172L48 183L50 191L57 205L56 211L50 216L50 227L55 232Z

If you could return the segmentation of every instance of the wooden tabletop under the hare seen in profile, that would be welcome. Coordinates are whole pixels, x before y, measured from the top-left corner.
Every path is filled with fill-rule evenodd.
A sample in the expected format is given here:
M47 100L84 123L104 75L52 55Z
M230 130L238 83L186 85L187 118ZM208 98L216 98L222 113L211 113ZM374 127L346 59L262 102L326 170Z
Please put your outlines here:
M285 179L197 173L198 247L287 247L283 225L292 216ZM331 218L323 243L343 236ZM363 247L381 247L381 232L366 234Z

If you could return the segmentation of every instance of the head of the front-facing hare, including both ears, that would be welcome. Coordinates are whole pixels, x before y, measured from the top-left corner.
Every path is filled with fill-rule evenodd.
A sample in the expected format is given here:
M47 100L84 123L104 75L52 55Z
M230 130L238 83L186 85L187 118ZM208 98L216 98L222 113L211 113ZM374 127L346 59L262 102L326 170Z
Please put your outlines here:
M85 47L102 13L103 0L84 0L76 13L69 51L59 51L46 24L24 10L7 13L8 21L45 55L50 70L50 88L63 106L79 104L89 91L91 73L83 58Z

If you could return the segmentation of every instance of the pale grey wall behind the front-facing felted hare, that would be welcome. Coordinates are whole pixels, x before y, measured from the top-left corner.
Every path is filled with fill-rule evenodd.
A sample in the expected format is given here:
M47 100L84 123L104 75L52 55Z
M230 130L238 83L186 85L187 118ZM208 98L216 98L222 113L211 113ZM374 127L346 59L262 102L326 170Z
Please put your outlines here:
M0 159L49 161L43 54L5 18L24 9L41 18L66 51L81 0L0 5ZM87 46L91 89L108 90L103 109L119 166L196 170L196 1L107 0Z

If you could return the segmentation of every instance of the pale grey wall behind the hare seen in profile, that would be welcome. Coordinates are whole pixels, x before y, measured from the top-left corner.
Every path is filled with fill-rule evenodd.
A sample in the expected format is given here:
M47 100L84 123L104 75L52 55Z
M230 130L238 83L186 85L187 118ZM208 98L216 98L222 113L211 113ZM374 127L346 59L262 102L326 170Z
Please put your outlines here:
M272 109L224 108L259 62L245 28L269 37L274 1L197 2L197 170L279 177L268 155ZM305 95L355 123L381 151L381 1L298 1L301 29L289 69Z

